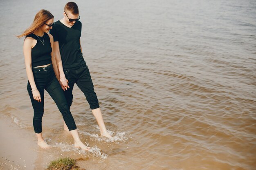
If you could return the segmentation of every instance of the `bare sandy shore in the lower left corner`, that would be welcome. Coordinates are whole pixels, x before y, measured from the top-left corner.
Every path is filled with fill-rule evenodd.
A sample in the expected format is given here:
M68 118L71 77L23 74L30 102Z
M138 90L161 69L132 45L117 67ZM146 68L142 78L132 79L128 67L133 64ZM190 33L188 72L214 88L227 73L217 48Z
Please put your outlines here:
M38 157L34 133L20 129L9 117L0 117L0 169L35 170Z

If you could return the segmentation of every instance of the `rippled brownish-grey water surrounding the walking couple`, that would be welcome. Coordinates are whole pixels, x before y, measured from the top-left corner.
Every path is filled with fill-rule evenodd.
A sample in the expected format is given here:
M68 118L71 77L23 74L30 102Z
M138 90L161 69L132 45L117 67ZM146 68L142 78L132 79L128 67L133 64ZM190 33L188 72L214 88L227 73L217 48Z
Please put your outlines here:
M56 157L82 155L87 170L255 170L254 0L76 2L83 55L114 139L99 137L76 86L71 111L93 150L72 148L47 94L43 130L56 148L37 148L47 155L37 168ZM23 39L14 35L40 9L61 19L65 3L1 1L0 111L27 133L33 133L33 110Z

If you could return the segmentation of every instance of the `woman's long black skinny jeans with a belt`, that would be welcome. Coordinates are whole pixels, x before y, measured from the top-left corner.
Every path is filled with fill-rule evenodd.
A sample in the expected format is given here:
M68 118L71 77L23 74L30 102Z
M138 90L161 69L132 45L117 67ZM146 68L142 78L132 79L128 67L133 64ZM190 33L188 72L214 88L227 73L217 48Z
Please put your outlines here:
M61 111L63 119L67 124L68 130L75 130L76 124L73 116L71 115L69 106L64 96L61 85L59 84L55 73L52 68L52 64L45 68L32 67L36 88L40 92L42 102L38 102L33 98L30 83L27 83L27 91L31 99L32 106L34 108L33 126L36 133L42 132L42 117L44 113L44 93L45 90L52 97L58 109Z

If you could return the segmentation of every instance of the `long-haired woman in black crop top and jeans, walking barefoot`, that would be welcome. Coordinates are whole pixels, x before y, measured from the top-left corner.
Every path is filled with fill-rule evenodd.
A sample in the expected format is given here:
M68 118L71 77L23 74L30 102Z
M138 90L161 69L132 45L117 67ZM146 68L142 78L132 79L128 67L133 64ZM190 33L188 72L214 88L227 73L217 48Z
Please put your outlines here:
M52 25L54 16L44 9L40 10L32 25L24 31L18 38L26 36L23 45L27 77L27 91L34 108L33 126L38 139L37 144L41 148L50 146L44 141L42 135L42 117L44 107L44 90L54 99L58 109L63 115L63 119L74 138L74 146L83 150L89 150L78 135L74 118L70 113L61 86L56 79L58 68L52 52L53 37L47 34ZM61 81L61 80L60 80Z

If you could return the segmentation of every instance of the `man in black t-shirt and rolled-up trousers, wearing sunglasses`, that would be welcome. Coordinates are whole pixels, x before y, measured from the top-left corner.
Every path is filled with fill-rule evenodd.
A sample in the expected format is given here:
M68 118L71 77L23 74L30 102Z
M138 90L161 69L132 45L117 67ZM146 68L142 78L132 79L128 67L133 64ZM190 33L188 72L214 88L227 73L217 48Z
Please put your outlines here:
M63 15L61 20L55 22L50 34L54 37L53 51L59 71L57 78L64 91L67 104L69 107L72 104L72 90L76 83L90 104L92 113L98 122L101 136L111 137L103 122L90 72L83 59L80 41L82 23L78 21L80 16L77 4L68 2L64 7ZM67 129L65 122L64 129Z

